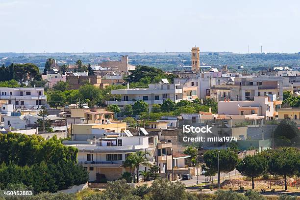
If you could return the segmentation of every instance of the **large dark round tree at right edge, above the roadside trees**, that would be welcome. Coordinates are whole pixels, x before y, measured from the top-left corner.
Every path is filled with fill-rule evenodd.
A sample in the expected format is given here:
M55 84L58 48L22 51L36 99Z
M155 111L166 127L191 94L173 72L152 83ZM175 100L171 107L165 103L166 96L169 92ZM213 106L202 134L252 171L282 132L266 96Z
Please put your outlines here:
M300 131L296 122L291 119L282 119L274 131L274 137L279 146L291 146L300 142Z

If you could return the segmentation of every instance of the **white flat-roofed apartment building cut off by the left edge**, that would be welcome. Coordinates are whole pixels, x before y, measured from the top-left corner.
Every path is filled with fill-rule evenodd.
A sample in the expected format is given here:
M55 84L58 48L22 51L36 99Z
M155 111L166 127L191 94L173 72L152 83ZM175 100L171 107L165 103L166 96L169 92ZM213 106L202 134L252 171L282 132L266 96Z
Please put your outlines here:
M0 99L8 100L14 108L37 109L47 106L44 87L0 87Z

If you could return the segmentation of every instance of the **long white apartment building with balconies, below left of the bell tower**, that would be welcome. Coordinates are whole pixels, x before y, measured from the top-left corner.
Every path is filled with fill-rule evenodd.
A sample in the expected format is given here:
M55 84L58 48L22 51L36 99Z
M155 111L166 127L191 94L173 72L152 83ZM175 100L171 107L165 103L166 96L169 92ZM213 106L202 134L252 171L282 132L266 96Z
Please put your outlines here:
M113 95L121 95L121 101L106 101L107 105L116 104L123 108L127 104L134 104L135 101L144 100L149 104L150 109L153 104L163 104L166 99L174 102L183 100L183 85L170 84L167 80L159 84L150 84L148 88L129 88L111 90Z

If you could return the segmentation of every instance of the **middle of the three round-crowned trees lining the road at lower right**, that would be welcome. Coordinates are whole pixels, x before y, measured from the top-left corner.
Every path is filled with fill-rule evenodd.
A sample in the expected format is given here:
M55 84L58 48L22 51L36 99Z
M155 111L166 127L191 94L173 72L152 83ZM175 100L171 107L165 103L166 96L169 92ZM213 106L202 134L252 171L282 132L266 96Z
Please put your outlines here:
M266 173L267 168L267 159L260 154L256 154L254 156L246 156L236 166L236 169L243 175L251 177L252 189L254 189L254 178Z

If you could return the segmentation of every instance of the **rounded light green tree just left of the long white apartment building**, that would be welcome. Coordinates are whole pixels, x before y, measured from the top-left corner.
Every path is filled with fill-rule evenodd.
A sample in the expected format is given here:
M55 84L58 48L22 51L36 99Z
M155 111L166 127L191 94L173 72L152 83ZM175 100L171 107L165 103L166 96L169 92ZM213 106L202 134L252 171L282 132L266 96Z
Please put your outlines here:
M89 106L95 106L102 99L99 87L92 85L84 85L79 87L79 98L82 100L89 99Z

